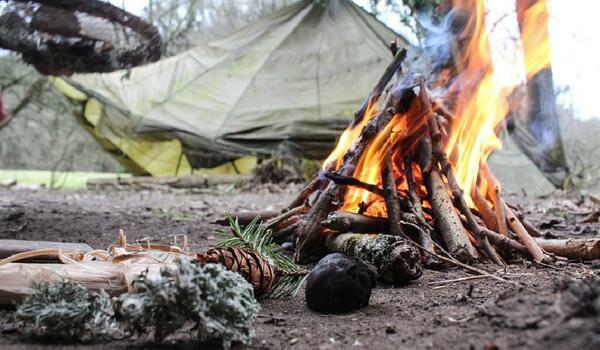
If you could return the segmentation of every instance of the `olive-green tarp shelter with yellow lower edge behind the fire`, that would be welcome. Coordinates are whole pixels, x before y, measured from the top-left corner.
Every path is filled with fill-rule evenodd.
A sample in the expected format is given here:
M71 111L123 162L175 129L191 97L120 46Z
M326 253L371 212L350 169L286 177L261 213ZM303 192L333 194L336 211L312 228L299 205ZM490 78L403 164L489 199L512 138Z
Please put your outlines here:
M350 0L305 0L130 71L56 79L88 130L137 173L242 156L323 159L403 38Z

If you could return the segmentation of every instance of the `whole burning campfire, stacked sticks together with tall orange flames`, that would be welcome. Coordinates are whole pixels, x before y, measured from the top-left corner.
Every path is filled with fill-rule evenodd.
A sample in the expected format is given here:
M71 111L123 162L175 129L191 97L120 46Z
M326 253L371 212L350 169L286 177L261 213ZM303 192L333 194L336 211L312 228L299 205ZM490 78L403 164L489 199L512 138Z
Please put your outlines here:
M547 42L534 45L532 28L547 20L536 6L545 2L519 10L522 33L530 36L527 77L550 62ZM335 250L333 241L344 233L402 237L418 247L425 264L502 265L515 256L544 263L573 253L542 239L502 197L487 159L501 147L508 98L522 82L501 83L506 79L494 69L483 2L457 1L453 12L452 32L460 33L453 64L420 75L402 68L406 52L392 44L392 63L321 172L264 223L276 239L295 244L298 262Z

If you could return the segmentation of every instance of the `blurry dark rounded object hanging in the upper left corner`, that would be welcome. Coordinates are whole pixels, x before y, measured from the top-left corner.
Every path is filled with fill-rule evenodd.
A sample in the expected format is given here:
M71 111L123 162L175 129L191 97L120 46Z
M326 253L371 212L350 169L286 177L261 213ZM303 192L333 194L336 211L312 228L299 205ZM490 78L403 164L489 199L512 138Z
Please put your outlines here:
M0 0L0 47L46 75L111 72L160 58L150 23L99 0ZM121 30L125 43L115 32Z

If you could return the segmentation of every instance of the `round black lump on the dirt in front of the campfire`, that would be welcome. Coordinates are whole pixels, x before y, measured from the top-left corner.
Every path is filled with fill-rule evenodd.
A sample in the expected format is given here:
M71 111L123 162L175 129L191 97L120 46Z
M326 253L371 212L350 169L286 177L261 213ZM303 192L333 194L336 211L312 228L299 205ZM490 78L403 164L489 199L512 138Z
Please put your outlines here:
M306 280L306 303L311 310L340 313L369 305L376 284L375 272L362 260L329 254Z

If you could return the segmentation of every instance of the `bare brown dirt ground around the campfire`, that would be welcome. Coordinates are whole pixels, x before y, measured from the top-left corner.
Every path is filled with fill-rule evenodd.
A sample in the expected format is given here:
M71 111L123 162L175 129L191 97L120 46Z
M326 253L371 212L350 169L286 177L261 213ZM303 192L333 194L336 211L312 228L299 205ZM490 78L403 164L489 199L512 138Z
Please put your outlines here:
M51 192L0 190L0 238L85 242L105 248L124 229L130 240L170 242L188 236L192 249L204 250L219 240L221 229L211 221L226 211L283 208L298 187L264 187L254 192L215 189L186 192ZM511 198L528 217L555 236L596 236L598 224L580 224L596 210L595 198L555 195ZM472 279L465 271L426 271L404 288L379 286L368 307L343 315L310 311L302 295L265 300L255 324L256 348L293 349L598 349L600 296L586 294L588 304L573 311L565 304L577 280L598 273L595 264L554 268L530 263L480 266L515 282ZM585 284L582 284L585 286ZM587 289L586 289L587 290ZM597 289L600 293L600 288ZM569 294L571 293L571 294ZM570 298L570 299L569 299ZM590 299L591 298L591 299ZM579 299L578 299L579 300ZM591 301L590 301L591 300ZM595 304L594 304L595 303ZM14 332L12 310L0 309L1 349L51 349ZM98 349L206 348L183 339L155 344L148 340L81 346Z

